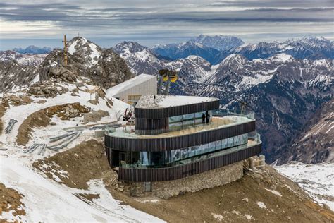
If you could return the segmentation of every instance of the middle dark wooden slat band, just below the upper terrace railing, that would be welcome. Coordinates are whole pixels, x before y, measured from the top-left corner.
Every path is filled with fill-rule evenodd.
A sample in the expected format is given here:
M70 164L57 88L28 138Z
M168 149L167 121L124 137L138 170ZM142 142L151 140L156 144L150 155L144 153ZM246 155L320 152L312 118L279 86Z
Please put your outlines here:
M216 128L209 131L202 131L189 135L179 135L168 138L119 138L105 135L104 145L106 149L121 151L148 151L159 152L165 150L177 150L194 145L202 145L235 135L242 135L255 131L255 121L241 123L240 125L226 128Z

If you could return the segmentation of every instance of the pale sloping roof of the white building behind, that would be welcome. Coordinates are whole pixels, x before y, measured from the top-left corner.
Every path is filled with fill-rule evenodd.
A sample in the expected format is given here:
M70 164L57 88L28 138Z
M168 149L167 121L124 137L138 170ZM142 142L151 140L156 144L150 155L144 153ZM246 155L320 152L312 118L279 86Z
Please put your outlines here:
M113 86L112 88L109 88L108 90L106 90L106 96L113 97L114 95L117 95L120 92L123 92L124 90L128 90L135 85L139 85L153 78L156 78L156 76L142 73L138 76L135 76L135 78L125 80L123 83L120 83L118 85Z

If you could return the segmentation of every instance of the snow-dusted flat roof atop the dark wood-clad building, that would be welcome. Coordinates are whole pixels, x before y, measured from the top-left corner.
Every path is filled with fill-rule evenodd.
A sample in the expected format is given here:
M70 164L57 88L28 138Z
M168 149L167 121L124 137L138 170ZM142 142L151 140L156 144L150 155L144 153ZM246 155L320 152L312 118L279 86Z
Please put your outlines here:
M214 101L219 101L219 99L216 97L197 97L184 95L145 95L140 97L136 108L161 109Z

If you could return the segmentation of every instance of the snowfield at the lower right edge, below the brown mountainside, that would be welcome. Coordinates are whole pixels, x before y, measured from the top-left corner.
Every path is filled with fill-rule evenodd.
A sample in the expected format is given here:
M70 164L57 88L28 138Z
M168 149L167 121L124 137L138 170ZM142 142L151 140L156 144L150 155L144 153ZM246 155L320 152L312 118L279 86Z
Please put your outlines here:
M290 162L275 169L295 181L314 200L325 203L334 211L334 163L303 164Z

